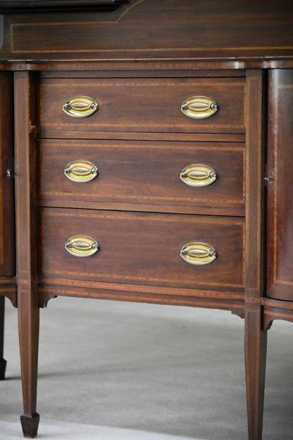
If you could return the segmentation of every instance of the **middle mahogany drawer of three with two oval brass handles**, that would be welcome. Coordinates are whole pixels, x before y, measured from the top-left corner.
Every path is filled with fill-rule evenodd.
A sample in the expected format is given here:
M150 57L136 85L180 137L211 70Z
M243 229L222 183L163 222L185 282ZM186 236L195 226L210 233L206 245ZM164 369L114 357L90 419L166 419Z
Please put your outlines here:
M244 210L242 143L44 140L38 157L41 204Z

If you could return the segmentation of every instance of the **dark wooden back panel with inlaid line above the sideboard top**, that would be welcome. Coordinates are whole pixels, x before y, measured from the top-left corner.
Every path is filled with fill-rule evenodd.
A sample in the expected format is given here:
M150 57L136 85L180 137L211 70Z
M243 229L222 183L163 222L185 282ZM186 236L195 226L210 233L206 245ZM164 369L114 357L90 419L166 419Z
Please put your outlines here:
M15 1L20 6L21 0ZM68 0L64 8L65 3L56 0L60 11L46 13L4 10L0 61L293 66L293 2L288 0L120 0L113 11L89 11L89 3L103 1ZM77 12L76 6L82 9Z

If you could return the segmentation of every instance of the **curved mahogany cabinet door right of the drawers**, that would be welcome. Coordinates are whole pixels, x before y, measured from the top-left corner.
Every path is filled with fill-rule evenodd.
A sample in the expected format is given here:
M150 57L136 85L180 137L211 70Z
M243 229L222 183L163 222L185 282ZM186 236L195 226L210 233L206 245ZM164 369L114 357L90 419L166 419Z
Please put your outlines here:
M268 296L293 300L293 69L270 71Z

